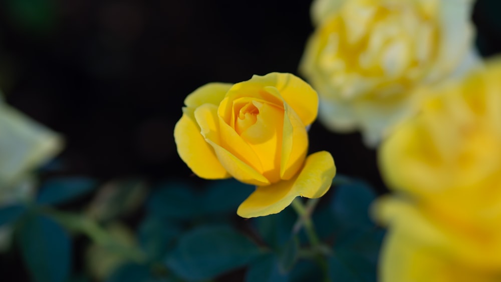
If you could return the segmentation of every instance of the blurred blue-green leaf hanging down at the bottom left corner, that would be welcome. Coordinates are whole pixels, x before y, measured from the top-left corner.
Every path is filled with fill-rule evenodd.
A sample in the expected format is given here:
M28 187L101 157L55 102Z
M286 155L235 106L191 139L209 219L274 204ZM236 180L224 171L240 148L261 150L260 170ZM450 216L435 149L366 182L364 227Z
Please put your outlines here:
M23 260L36 282L66 282L70 277L71 241L52 219L34 215L17 233Z

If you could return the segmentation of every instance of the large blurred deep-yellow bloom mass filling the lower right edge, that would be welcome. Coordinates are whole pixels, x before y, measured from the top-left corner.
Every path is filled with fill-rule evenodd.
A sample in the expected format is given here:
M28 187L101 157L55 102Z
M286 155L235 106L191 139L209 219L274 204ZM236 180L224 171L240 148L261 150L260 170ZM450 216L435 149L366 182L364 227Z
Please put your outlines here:
M381 281L501 281L499 78L497 59L443 86L382 144Z

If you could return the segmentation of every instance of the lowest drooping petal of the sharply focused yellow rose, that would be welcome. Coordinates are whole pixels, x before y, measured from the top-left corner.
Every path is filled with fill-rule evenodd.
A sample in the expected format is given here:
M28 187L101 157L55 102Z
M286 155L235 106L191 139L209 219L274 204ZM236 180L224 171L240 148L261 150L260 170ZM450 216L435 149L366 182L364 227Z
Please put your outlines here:
M257 187L238 207L241 217L257 217L279 213L297 197L318 198L331 186L336 166L331 154L321 151L310 155L301 173L291 180Z

